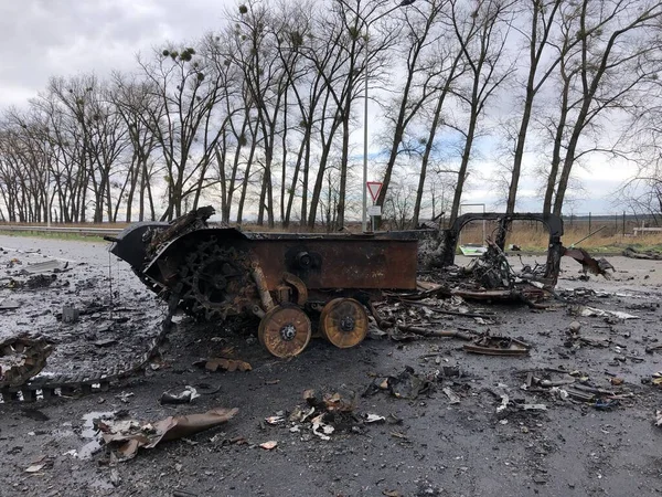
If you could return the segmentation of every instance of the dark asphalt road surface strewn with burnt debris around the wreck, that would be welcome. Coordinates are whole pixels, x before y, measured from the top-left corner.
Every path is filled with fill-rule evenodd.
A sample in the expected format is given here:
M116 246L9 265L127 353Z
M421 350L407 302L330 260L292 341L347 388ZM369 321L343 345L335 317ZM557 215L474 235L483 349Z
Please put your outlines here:
M49 286L9 289L10 279L0 279L0 303L9 297L21 305L0 311L0 338L18 331L52 338L55 351L47 373L111 368L138 357L158 331L162 306L126 264L109 260L104 244L0 236L0 277L14 281L22 265L43 256L71 261L71 271L56 274ZM41 252L28 253L34 250ZM8 267L11 260L18 261ZM159 369L142 377L76 399L0 403L0 495L660 494L662 427L654 425L654 411L662 409L662 390L641 380L662 370L661 352L645 352L660 335L662 262L610 261L619 269L610 282L577 281L579 266L564 262L558 287L568 289L560 295L569 305L541 311L471 304L473 311L494 315L482 322L456 316L436 322L439 329L489 329L520 338L532 346L524 358L471 356L457 339L367 339L346 350L317 339L301 356L280 361L259 347L254 321L221 331L180 319ZM579 304L639 318L573 316ZM84 310L78 322L57 320L64 305ZM568 342L566 331L574 320L581 325L580 336L608 338L609 347ZM193 366L228 347L253 370L211 373ZM434 388L414 400L384 391L361 396L375 377L397 374L407 366L431 379ZM456 366L459 377L445 376ZM578 371L595 387L632 396L599 410L595 402L522 390L526 372L543 368ZM611 387L612 376L624 384ZM205 393L190 404L160 405L163 391L184 385ZM442 392L447 387L460 396L459 403L450 403ZM355 417L337 422L329 441L312 434L306 423L297 424L298 432L289 422L265 423L267 416L305 405L307 389L339 392L344 399L356 394ZM503 394L511 403L496 412ZM545 404L546 411L524 411L516 402ZM142 450L117 465L109 464L108 450L98 447L90 430L90 420L104 412L127 410L131 419L158 421L217 406L239 412L223 426ZM391 416L383 424L366 424L362 416L369 413ZM277 447L260 448L267 441L276 441ZM26 473L34 463L45 466Z

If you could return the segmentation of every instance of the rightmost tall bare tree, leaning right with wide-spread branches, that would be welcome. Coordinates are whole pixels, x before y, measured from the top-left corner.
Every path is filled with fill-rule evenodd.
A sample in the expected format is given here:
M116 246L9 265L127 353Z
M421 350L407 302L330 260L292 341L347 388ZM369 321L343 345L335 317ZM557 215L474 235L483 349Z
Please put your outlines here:
M658 56L662 4L645 1L584 0L567 14L564 38L579 39L578 51L567 62L576 67L578 84L570 88L565 158L556 184L553 212L562 213L580 139L598 117L627 107L633 91L660 71ZM589 147L599 148L599 147Z

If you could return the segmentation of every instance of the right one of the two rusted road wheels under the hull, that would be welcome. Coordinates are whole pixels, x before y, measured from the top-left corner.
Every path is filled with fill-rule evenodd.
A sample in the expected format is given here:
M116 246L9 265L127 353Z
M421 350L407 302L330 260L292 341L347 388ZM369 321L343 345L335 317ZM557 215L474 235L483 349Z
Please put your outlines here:
M365 307L353 298L335 298L324 306L320 316L322 336L335 347L357 346L367 334Z

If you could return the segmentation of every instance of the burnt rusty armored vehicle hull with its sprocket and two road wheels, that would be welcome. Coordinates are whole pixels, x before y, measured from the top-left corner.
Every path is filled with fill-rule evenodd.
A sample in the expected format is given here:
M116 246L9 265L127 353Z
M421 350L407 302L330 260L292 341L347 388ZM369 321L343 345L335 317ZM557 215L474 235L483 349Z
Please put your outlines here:
M110 252L191 316L260 318L260 342L277 357L300 353L319 332L353 347L367 332L371 299L415 289L418 241L410 236L243 233L206 223L211 208L173 223L138 223Z

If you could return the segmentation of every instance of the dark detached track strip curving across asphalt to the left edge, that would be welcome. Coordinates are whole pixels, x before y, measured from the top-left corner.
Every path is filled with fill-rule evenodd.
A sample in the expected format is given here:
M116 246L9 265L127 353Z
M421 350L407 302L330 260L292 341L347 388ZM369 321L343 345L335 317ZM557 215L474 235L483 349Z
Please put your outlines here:
M58 396L70 396L76 393L89 394L93 392L107 391L113 383L117 383L128 377L145 371L159 347L163 343L166 336L172 328L172 314L170 314L161 326L159 334L152 338L149 349L132 364L119 364L105 372L90 374L57 374L55 377L38 377L25 383L9 385L0 383L0 394L4 402L34 402L38 392L41 391L43 400Z

